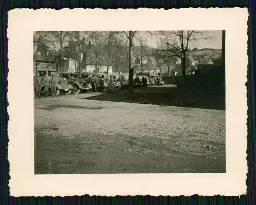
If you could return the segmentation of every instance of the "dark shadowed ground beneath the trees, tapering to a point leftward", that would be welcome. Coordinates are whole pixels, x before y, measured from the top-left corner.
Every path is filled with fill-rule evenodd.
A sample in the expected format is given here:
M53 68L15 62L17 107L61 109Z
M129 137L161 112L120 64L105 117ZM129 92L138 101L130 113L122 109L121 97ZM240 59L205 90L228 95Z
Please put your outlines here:
M80 99L225 110L225 91L216 88L144 87L134 91L131 95L123 88Z

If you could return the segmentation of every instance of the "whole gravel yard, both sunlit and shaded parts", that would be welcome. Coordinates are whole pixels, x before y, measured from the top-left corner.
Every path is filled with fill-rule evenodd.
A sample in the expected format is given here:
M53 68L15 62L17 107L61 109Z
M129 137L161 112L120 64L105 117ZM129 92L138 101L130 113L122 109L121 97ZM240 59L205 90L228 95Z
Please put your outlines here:
M35 100L36 173L225 172L225 111L89 96Z

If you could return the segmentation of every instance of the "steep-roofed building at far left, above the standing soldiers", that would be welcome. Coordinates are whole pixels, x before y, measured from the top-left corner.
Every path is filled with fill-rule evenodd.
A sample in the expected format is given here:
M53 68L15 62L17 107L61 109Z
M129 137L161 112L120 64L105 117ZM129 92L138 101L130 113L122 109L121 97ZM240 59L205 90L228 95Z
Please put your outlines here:
M34 75L39 72L40 75L56 75L52 53L47 45L41 42L34 43Z

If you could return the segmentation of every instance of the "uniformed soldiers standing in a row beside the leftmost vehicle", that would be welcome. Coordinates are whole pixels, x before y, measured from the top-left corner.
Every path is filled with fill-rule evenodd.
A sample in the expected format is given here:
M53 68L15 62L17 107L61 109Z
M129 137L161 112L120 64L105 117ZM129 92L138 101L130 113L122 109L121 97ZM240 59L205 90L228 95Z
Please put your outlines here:
M53 76L49 78L46 73L45 76L40 76L39 73L34 77L34 87L35 87L35 97L39 98L41 92L44 92L44 96L49 96L49 91L52 96L55 96L56 93L56 81L53 79ZM44 90L42 90L44 87Z

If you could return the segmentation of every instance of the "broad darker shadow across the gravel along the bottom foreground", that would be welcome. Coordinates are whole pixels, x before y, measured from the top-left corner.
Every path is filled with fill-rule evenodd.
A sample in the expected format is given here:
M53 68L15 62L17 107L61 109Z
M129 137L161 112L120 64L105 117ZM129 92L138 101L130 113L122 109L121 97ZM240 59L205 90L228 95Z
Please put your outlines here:
M164 140L84 132L70 138L55 132L35 128L35 174L225 172L225 144L179 135Z

